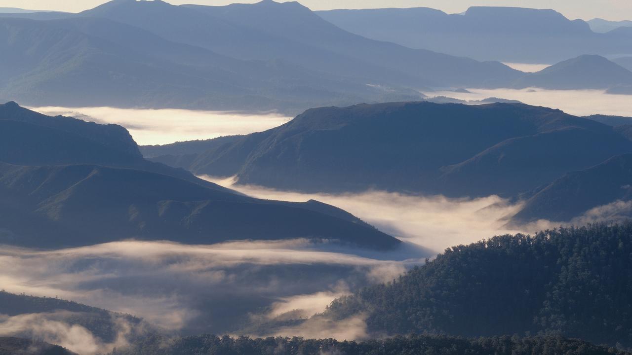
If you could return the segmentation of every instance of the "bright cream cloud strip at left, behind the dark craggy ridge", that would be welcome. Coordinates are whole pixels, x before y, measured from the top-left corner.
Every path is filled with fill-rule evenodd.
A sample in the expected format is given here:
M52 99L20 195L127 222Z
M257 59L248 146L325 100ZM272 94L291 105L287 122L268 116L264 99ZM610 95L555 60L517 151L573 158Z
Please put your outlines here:
M184 109L119 109L116 107L30 107L51 116L63 115L95 123L120 124L139 145L205 140L228 135L265 131L291 117L274 112L247 114L231 111Z

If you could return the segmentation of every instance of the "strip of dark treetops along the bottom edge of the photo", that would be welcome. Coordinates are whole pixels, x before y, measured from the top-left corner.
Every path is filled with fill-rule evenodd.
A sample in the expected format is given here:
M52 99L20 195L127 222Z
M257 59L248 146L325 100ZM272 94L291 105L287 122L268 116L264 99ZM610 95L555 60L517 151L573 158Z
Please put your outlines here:
M266 338L236 339L200 335L165 341L156 337L135 344L130 349L114 351L111 355L608 355L629 354L588 342L560 337L490 337L462 339L412 335L364 342L338 341L335 339ZM169 345L164 345L169 344Z

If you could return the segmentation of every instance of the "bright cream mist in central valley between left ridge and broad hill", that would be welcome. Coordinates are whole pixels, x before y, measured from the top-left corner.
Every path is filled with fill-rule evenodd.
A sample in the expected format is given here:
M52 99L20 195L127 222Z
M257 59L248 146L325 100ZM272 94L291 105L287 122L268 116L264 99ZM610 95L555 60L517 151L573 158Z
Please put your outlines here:
M298 193L234 184L234 179L201 178L258 198L296 202L313 199L329 203L360 217L381 231L435 253L441 253L449 246L473 243L498 234L530 232L504 227L504 219L516 214L521 204L509 203L498 196L471 199L413 196L386 191Z

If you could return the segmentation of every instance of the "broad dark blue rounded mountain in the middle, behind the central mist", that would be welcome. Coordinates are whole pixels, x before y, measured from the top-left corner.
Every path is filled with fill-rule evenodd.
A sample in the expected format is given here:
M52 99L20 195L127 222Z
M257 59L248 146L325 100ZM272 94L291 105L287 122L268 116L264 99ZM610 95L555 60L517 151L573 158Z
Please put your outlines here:
M268 131L168 145L165 156L148 149L152 160L240 184L512 196L632 145L610 126L545 107L401 102L310 109Z

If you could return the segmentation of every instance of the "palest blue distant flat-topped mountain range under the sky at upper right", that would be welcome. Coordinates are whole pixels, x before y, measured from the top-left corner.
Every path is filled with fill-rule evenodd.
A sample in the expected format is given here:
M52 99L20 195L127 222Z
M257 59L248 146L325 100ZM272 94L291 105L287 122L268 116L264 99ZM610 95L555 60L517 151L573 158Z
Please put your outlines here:
M629 33L595 33L585 21L571 21L550 9L474 6L463 15L429 8L340 9L317 14L370 39L478 60L556 63L586 53L629 53L632 43Z

